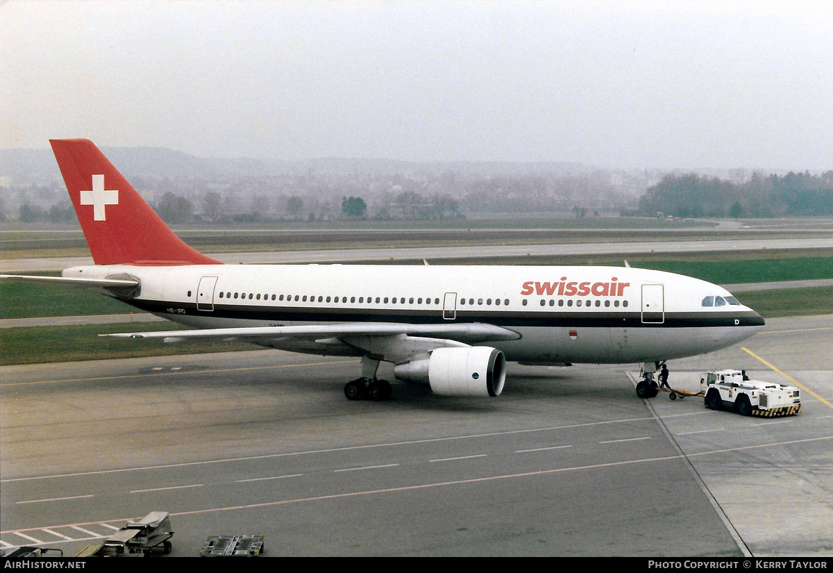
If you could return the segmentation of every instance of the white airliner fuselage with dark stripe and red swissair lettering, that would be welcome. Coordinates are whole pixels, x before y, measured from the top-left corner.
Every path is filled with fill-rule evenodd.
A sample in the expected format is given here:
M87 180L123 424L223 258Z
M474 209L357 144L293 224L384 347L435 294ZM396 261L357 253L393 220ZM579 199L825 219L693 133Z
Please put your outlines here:
M538 364L694 356L742 341L764 324L722 287L631 267L111 265L63 276L136 278L141 287L127 302L197 328L487 323L520 335L489 346L509 361ZM272 346L355 354L314 341Z

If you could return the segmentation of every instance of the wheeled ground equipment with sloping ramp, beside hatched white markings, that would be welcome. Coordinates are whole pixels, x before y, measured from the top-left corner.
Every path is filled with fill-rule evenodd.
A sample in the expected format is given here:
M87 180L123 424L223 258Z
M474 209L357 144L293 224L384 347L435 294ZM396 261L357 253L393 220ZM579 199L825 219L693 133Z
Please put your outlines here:
M127 525L100 543L85 547L77 557L106 557L127 554L152 555L154 550L171 552L171 518L167 511L151 511L138 521Z

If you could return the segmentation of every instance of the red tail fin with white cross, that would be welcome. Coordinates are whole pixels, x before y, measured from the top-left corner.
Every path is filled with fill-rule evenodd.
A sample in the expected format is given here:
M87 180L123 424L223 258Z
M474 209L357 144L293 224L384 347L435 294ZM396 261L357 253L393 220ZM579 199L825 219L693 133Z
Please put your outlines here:
M52 139L69 197L97 265L212 265L188 247L87 139Z

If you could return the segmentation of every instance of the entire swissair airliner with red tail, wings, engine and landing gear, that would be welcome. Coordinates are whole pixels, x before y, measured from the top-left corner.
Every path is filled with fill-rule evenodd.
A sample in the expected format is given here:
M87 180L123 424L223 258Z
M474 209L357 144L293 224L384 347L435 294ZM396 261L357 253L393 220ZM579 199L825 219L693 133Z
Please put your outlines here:
M499 396L507 364L641 364L641 397L675 358L731 346L761 316L726 289L625 267L225 265L182 242L86 139L51 140L92 266L4 280L85 287L182 324L112 335L245 341L356 356L348 399L385 400L382 361L438 396Z

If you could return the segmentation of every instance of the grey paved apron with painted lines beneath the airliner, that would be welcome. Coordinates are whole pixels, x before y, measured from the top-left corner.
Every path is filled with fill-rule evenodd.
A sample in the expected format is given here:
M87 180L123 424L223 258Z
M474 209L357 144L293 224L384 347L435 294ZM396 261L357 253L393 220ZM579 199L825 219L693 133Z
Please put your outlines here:
M263 534L267 556L833 556L833 316L771 319L674 361L801 384L776 420L636 397L636 365L510 365L496 399L280 351L0 368L0 546L74 555L171 513L172 556ZM392 379L389 371L380 374Z

